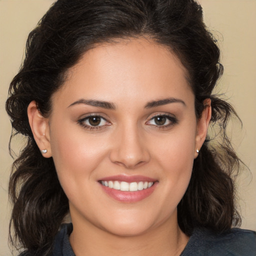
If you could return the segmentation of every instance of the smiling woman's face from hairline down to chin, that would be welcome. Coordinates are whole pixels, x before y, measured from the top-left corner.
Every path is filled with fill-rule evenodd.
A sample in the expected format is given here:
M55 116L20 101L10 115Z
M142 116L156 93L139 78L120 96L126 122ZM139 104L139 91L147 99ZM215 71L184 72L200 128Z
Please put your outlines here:
M118 235L177 223L202 142L185 70L165 47L130 39L90 49L48 121L73 223Z

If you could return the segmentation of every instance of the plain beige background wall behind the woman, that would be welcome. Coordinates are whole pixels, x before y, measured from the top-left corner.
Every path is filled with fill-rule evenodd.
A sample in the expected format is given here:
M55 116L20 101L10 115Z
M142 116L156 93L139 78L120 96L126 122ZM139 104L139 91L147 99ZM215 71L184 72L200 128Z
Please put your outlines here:
M23 55L28 32L53 0L0 0L0 256L10 255L7 246L9 205L7 182L11 157L8 139L11 126L4 110L8 84ZM256 0L200 0L206 24L219 39L224 75L221 92L243 121L232 128L235 148L249 166L239 177L242 227L256 229ZM18 148L20 141L13 144Z

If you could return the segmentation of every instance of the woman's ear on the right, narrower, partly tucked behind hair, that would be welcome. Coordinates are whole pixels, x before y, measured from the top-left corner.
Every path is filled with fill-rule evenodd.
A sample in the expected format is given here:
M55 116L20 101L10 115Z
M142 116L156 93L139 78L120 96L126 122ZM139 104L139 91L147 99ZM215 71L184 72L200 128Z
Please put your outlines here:
M201 117L197 120L197 130L195 135L195 148L194 148L194 158L197 157L198 152L196 150L200 150L206 135L207 129L209 126L210 118L211 118L211 100L210 98L206 98L203 101L204 109L202 110Z

